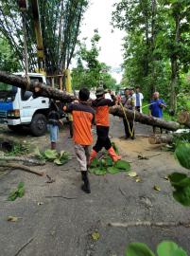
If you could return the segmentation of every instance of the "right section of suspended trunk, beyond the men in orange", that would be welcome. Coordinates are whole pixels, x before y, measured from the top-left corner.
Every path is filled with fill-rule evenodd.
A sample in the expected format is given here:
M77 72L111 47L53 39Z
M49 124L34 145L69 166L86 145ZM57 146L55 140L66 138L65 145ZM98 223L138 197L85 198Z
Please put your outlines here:
M125 108L126 116L128 119L139 121L141 123L152 125L160 128L164 128L169 131L176 131L180 128L180 123L176 121L166 121L164 119L156 119L144 114L139 113L138 111L134 111ZM120 106L115 106L110 108L110 114L113 116L117 116L120 118L125 118L123 109Z

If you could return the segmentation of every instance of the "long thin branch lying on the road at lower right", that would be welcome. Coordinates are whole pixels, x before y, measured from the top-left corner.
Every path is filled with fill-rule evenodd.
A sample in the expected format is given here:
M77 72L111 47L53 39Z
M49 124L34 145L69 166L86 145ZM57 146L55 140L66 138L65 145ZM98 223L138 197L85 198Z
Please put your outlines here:
M150 222L150 221L137 221L137 222L126 222L126 223L108 223L108 226L114 228L132 228L132 227L154 227L154 228L170 228L170 227L185 227L190 228L190 222Z

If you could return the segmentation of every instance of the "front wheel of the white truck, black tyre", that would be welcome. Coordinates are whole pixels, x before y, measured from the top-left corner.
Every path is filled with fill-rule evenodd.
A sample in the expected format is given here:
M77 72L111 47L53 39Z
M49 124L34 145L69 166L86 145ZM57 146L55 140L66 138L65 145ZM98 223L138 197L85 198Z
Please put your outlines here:
M36 137L43 136L47 128L47 119L43 114L36 114L31 120L30 131Z

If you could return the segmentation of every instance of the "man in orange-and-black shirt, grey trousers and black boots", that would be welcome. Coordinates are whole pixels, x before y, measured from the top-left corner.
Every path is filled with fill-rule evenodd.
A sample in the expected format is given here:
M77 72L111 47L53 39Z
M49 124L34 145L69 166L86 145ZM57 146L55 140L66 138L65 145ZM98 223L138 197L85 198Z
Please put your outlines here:
M73 140L75 151L84 184L83 192L90 193L90 181L88 178L88 163L90 159L90 147L93 144L92 125L95 121L95 110L89 105L90 92L82 88L79 93L79 101L64 106L63 110L73 115Z

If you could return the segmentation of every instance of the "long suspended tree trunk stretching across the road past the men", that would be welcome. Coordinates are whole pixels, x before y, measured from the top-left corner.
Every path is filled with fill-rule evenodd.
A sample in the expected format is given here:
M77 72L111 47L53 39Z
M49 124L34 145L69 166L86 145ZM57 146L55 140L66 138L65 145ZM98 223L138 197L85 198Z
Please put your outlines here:
M0 71L0 82L9 83L11 85L20 87L22 89L32 91L35 93L36 96L43 96L43 97L51 98L51 99L62 101L62 102L71 102L76 100L75 97L67 95L66 93L61 92L58 89L54 89L40 82L29 83L26 81L26 79L6 73L4 71ZM38 88L38 91L36 90L36 88ZM128 119L134 119L133 111L125 108L125 112ZM110 113L113 116L118 116L121 118L125 117L124 112L120 106L111 107ZM137 111L135 112L134 120L147 125L154 125L160 128L164 128L170 131L176 131L180 128L180 124L178 122L165 121L164 119L156 119L156 118L141 114Z

